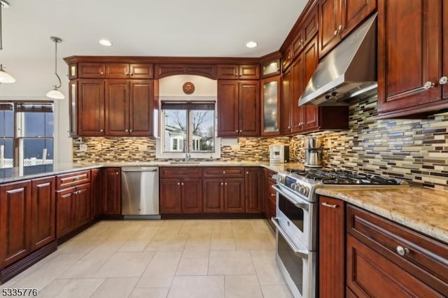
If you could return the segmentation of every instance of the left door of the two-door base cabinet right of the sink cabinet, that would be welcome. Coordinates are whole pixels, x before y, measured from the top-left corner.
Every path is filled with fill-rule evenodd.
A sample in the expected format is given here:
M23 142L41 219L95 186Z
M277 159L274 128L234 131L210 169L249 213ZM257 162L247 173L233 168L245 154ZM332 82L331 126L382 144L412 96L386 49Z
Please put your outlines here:
M224 211L224 181L220 178L202 180L202 204L204 213Z

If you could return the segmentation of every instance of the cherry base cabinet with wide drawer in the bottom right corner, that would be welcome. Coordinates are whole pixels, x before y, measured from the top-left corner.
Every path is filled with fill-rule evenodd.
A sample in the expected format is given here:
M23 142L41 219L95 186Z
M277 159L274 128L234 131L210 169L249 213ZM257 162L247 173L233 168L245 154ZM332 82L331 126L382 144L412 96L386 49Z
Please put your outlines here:
M346 287L354 295L447 297L447 244L356 206L346 213Z

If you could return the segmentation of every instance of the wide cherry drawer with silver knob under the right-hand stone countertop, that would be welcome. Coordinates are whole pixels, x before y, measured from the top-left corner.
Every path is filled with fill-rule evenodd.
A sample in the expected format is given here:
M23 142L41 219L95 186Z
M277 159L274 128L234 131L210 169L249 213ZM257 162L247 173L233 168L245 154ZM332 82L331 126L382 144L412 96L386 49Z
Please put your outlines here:
M347 205L346 227L356 239L448 295L447 244L351 205Z

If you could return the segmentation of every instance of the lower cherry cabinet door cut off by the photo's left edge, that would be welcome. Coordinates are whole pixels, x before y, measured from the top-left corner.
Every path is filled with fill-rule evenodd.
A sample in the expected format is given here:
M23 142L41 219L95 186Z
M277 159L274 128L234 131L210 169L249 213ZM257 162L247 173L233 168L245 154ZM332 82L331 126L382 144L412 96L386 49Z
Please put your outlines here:
M0 268L29 253L31 183L0 186Z

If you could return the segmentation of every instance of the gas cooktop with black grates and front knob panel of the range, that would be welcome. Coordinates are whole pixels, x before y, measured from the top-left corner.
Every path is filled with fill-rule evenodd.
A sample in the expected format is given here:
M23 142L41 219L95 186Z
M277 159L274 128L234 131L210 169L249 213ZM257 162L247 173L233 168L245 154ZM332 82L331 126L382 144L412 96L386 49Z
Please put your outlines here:
M276 173L273 178L283 190L311 202L316 201L315 191L321 187L408 186L408 183L402 179L342 169L286 169L286 173Z

